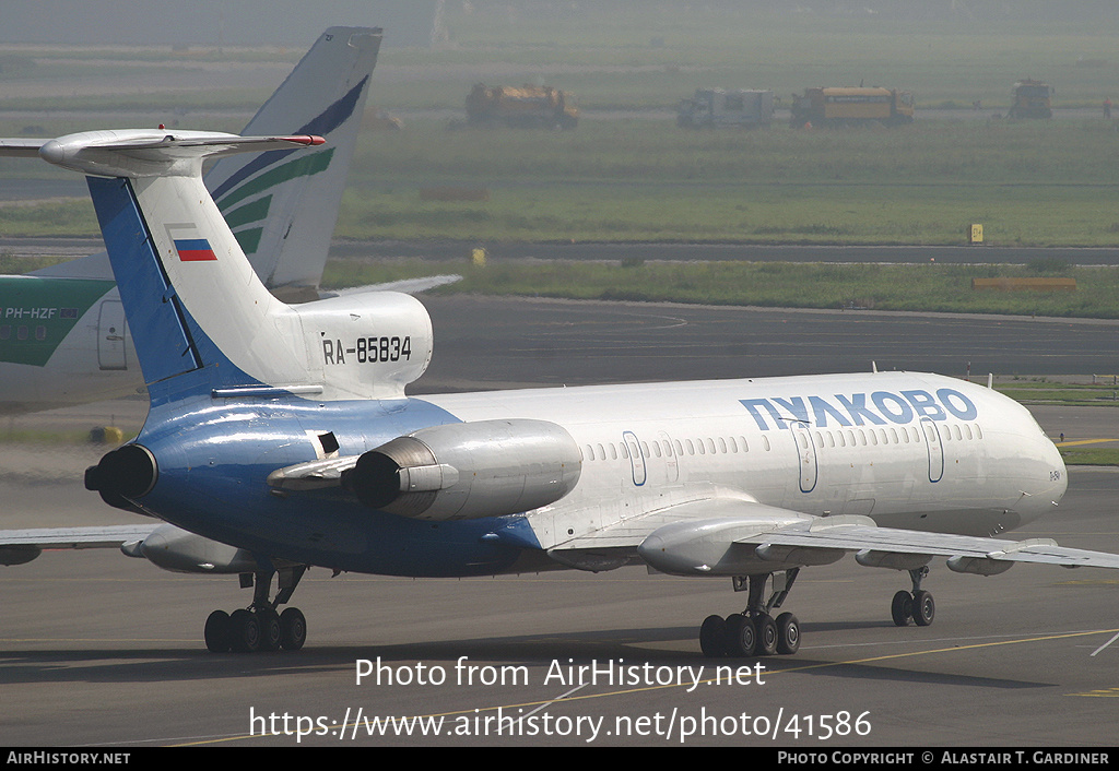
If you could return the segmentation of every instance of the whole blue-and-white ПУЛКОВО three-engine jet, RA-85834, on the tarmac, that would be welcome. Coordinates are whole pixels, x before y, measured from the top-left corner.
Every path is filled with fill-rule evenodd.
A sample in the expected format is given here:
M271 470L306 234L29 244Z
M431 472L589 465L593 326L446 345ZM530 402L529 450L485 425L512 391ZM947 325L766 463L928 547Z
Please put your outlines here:
M801 570L848 553L908 573L899 626L932 622L933 560L979 575L1119 567L993 537L1051 513L1066 472L1024 407L970 383L872 373L407 396L432 356L421 302L280 302L200 178L208 157L321 142L130 130L39 151L87 176L151 399L86 487L167 524L101 538L169 570L241 574L252 602L210 613L209 649L300 648L305 617L278 611L312 565L730 577L745 607L702 621L711 657L797 651L797 618L774 613ZM30 533L0 547L30 558L81 537Z

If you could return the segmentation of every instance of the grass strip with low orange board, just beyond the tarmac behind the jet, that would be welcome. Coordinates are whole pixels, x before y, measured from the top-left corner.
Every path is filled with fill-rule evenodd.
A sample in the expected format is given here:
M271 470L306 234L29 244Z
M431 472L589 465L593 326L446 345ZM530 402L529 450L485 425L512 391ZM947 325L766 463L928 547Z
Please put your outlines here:
M778 308L1009 313L1119 318L1119 271L1068 269L1075 292L977 292L972 278L1034 275L1007 265L881 265L831 263L645 262L491 260L486 267L421 260L372 263L332 260L323 285L352 286L442 273L464 280L439 292L521 294L574 299L671 301Z

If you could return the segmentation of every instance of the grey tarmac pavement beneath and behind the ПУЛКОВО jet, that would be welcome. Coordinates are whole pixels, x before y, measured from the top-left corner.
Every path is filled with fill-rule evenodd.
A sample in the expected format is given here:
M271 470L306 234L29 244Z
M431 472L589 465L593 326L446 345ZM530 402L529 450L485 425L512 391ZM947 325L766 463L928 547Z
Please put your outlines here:
M972 379L1117 368L1107 322L427 302L436 348L417 393L868 372L871 360L958 376L970 360ZM1051 435L1119 439L1117 408L1035 414ZM125 401L11 423L142 417L142 401ZM95 448L0 452L6 527L128 520L81 488ZM1071 469L1061 507L1013 537L1119 552L1116 500L1119 473ZM800 652L715 662L696 632L708 613L744 605L730 581L634 567L462 581L312 570L293 598L308 617L307 648L215 656L203 622L247 604L235 577L175 575L114 551L47 553L0 570L0 745L920 752L1119 741L1119 575L1025 565L984 579L934 563L924 584L934 623L899 629L890 599L908 586L904 574L852 560L806 570L784 608L800 618ZM370 674L358 683L360 668ZM378 723L393 717L426 721Z

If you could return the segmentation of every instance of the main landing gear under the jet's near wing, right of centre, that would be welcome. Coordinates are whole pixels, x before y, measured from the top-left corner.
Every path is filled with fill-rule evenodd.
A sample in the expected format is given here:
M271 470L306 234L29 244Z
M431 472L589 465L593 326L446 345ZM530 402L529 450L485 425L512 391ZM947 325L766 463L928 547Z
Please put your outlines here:
M762 601L765 585L772 573L734 579L735 591L749 589L746 609L725 619L708 615L699 627L699 649L708 658L782 656L800 649L800 622L792 613L781 613L774 619L770 611L780 608L800 568L787 571L781 579L774 576L773 595ZM779 584L782 584L779 587Z

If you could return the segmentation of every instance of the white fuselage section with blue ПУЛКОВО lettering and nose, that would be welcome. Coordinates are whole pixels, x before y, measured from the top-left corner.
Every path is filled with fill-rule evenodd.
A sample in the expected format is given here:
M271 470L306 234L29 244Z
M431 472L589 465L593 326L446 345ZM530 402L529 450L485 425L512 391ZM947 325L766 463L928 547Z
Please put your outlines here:
M529 515L544 548L631 517L718 499L987 536L1052 510L1066 487L1060 453L1024 407L935 375L592 386L425 401L464 421L539 419L572 434L583 452L579 485Z

